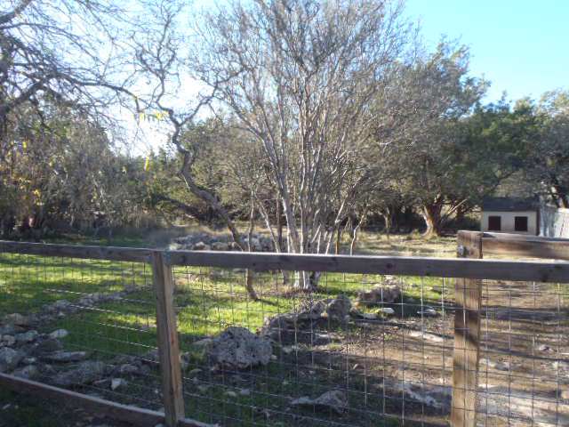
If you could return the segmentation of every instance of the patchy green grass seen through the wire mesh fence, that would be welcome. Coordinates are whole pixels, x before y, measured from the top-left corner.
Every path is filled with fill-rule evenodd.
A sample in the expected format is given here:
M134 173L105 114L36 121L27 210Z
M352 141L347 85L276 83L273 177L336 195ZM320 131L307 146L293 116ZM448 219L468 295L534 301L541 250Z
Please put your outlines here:
M93 242L84 240L82 243ZM132 244L144 246L140 242L135 244L133 241ZM320 279L317 294L307 295L292 293L290 287L283 285L279 274L264 273L256 275L254 282L260 301L251 301L244 291L244 271L176 268L174 278L180 347L188 352L188 370L206 366L203 351L194 345L205 336L219 334L230 325L245 326L255 331L263 325L265 318L296 310L308 298L328 299L346 294L354 301L358 291L382 280L378 275L329 273ZM58 318L51 324L42 325L40 332L67 329L69 335L62 340L65 347L69 350L90 350L92 359L112 359L120 354L140 355L156 347L156 302L151 280L151 271L148 265L143 264L0 254L0 317L12 312L27 314L39 311L45 304L62 299L76 302L84 294L110 294L123 291L125 286L134 286L137 290L128 294L123 301L102 303L96 306L96 310L81 310ZM421 303L437 308L441 295L432 287L442 286L442 279L410 277L403 278L402 283L405 305L385 305L396 310L396 316L417 316L416 310L419 310ZM445 292L445 300L449 297L452 294ZM361 308L370 312L377 309ZM330 325L331 331L339 334L357 332L349 327ZM333 344L328 351L341 353L345 350L342 345ZM284 415L274 415L264 420L262 414L252 411L250 407L283 411L288 405L288 399L284 396L314 396L330 390L334 383L344 380L341 373L338 377L335 375L339 375L339 372L323 371L317 375L295 373L290 367L284 366L280 359L271 362L268 367L260 368L254 377L242 375L246 380L244 383L225 383L225 377L204 372L200 381L212 384L199 399L188 399L187 413L204 422L232 424L231 419L238 419L241 420L238 425L287 425ZM313 377L312 385L307 387L307 378L310 376ZM357 390L360 386L351 384L351 387ZM361 384L361 387L365 387L365 384ZM238 395L236 398L226 395L228 390L240 388L251 388L252 394ZM157 399L156 396L154 399ZM350 402L362 409L381 407L380 401L364 404L358 393L350 396ZM297 412L311 415L310 411ZM214 416L212 420L212 414L217 418ZM218 415L228 418L223 420ZM322 416L322 423L316 425L326 425L327 418ZM330 420L334 416L330 415ZM366 425L399 425L396 421L368 421Z

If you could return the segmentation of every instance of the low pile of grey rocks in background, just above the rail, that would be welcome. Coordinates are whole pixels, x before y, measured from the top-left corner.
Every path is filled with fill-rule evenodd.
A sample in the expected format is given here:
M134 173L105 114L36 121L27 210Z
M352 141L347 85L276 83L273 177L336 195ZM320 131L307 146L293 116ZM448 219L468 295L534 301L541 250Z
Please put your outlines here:
M243 237L244 244L249 242L248 236ZM181 238L174 238L169 247L171 250L183 251L239 251L239 246L228 234L210 234L206 232L193 233ZM273 240L267 236L255 233L251 238L252 252L275 252Z

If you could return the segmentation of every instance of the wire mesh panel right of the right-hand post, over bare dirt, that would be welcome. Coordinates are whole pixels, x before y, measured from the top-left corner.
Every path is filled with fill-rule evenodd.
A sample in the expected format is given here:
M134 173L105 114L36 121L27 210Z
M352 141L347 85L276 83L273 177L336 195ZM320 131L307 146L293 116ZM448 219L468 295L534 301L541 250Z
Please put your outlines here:
M569 284L483 290L478 425L569 425Z

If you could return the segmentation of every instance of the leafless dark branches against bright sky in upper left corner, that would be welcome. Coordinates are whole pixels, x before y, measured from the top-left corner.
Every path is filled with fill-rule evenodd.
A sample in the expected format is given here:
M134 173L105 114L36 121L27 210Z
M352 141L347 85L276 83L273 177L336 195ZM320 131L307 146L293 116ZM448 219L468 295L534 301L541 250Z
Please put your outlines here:
M55 100L102 121L111 103L132 95L124 44L132 27L118 4L20 0L0 9L0 161L20 106L41 117L44 100Z

